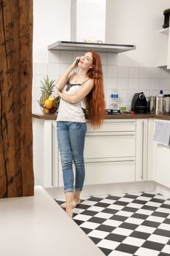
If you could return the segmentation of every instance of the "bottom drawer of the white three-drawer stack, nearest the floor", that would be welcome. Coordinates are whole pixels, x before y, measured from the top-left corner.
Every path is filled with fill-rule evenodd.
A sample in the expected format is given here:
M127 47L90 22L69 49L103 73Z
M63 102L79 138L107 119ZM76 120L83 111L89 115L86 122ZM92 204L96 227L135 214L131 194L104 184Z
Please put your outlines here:
M85 160L85 185L131 181L135 181L135 160L133 157ZM59 187L63 187L61 162L59 164Z

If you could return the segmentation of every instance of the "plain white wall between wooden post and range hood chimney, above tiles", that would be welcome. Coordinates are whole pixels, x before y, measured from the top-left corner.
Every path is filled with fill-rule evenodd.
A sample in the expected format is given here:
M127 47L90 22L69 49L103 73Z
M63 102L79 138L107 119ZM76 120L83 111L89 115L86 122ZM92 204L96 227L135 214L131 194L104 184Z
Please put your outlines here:
M70 6L71 0L34 0L34 62L47 62L47 45L69 41Z

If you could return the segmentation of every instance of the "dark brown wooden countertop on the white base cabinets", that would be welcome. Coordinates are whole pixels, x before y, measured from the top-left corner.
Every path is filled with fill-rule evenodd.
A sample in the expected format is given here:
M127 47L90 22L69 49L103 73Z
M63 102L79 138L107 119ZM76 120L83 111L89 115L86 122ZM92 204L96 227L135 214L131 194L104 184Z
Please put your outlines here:
M55 120L57 118L56 115L45 115L43 113L33 113L32 117L39 118L43 120ZM155 115L155 114L121 114L121 115L106 115L105 119L131 119L131 118L157 118L162 120L170 120L169 115Z

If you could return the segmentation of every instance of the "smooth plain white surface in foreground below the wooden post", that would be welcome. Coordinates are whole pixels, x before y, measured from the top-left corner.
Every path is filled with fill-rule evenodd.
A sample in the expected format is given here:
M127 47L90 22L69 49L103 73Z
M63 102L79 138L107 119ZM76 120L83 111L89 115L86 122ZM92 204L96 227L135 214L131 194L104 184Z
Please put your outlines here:
M0 199L1 256L102 256L42 187L34 197Z

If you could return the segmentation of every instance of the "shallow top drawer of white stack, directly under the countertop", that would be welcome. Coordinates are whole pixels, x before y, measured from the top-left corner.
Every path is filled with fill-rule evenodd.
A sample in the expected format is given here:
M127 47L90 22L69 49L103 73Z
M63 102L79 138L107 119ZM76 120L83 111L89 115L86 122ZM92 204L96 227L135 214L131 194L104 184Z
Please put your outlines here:
M93 129L87 123L88 132L128 132L136 130L136 120L105 120L99 129Z

